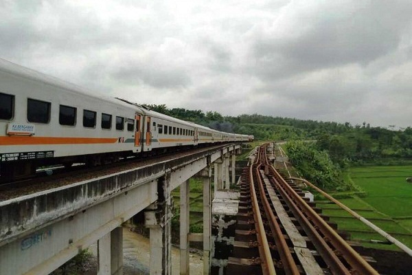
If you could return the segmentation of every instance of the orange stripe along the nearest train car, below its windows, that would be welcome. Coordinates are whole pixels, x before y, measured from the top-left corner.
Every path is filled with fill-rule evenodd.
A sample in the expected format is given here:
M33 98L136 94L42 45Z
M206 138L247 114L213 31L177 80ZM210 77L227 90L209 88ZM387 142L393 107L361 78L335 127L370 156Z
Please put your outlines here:
M40 144L107 144L117 142L117 137L0 137L1 145L40 145Z

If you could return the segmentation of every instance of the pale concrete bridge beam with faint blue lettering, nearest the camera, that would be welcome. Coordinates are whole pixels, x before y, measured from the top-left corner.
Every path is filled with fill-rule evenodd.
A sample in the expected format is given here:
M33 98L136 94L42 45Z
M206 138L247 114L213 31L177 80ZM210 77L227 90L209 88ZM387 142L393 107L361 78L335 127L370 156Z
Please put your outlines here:
M0 274L53 272L156 201L156 192L156 181L120 192L120 197L107 199L3 245L0 248Z

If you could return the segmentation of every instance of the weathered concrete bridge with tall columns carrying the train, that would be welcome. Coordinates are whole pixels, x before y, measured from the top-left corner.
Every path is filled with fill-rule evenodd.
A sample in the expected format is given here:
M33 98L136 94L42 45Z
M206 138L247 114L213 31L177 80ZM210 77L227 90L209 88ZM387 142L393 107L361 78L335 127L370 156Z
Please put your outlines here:
M46 190L0 201L0 274L49 274L96 242L98 274L122 274L121 226L142 211L150 228L150 274L171 274L171 191L178 186L181 274L190 272L191 239L203 241L204 274L209 274L211 181L214 192L229 189L240 151L240 144L198 148L80 181L58 179ZM195 175L204 183L204 230L192 235L188 180Z

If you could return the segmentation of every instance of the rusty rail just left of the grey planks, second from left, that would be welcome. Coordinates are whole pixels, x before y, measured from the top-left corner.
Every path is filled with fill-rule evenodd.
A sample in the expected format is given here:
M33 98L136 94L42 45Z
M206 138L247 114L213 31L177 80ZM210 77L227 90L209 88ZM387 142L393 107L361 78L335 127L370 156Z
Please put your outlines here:
M262 150L261 157L262 159L266 159L266 152L264 148ZM260 159L260 162L262 162L262 159ZM285 273L286 274L299 274L299 270L297 268L295 260L293 259L293 256L290 253L288 244L286 243L286 239L284 238L282 230L280 229L280 226L279 226L279 223L277 222L275 214L273 214L271 204L269 203L266 197L265 190L264 190L264 184L262 182L262 175L260 175L259 173L260 167L262 167L262 163L260 163L258 167L256 168L256 173L258 173L258 187L259 187L259 191L261 195L261 201L263 204L264 212L266 213L266 217L268 218L269 226L271 228L272 235L273 235L273 239L275 239L276 247L278 248L277 251L279 252L279 256L284 266Z

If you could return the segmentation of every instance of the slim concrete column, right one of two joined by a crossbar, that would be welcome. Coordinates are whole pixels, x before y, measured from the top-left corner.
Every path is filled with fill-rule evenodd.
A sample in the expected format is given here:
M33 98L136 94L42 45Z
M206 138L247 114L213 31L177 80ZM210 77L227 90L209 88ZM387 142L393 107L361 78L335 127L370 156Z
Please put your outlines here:
M210 274L210 238L211 238L211 168L209 177L203 177L203 274Z

